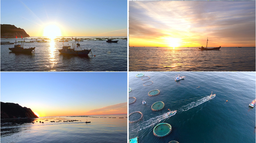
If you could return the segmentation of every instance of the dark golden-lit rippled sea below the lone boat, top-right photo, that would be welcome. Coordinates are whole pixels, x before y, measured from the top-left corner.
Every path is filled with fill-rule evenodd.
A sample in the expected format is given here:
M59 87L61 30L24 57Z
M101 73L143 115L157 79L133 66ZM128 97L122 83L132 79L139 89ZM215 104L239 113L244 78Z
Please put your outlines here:
M129 71L255 71L255 48L129 47Z

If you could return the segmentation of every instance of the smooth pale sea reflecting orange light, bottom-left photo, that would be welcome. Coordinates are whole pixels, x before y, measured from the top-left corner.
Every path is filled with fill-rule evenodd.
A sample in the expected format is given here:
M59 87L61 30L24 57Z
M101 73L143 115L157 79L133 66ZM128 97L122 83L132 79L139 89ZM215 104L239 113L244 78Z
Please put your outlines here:
M127 115L39 117L34 120L34 124L1 124L1 143L125 143L127 142L125 117ZM63 122L63 120L79 121ZM44 123L39 123L40 121Z

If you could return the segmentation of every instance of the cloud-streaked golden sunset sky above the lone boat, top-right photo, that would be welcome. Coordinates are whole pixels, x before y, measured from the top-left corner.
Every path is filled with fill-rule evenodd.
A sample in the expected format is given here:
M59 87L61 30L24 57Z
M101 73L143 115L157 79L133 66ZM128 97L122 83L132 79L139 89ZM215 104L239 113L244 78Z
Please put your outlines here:
M255 47L255 1L129 1L129 46Z

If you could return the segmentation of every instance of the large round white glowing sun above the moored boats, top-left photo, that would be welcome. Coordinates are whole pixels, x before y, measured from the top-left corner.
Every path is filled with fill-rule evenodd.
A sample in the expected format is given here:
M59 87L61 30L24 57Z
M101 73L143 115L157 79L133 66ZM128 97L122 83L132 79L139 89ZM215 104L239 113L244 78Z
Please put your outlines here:
M61 36L60 28L56 25L48 25L43 30L43 36L48 36L51 39L54 39L56 36Z

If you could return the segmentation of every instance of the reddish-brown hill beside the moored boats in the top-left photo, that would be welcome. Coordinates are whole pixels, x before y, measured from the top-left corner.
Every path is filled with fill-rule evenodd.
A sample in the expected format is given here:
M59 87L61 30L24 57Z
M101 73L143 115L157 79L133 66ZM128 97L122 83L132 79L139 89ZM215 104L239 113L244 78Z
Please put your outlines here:
M14 25L10 24L1 24L1 37L12 37L16 38L17 37L29 37L29 35L25 32L24 29L17 28Z

